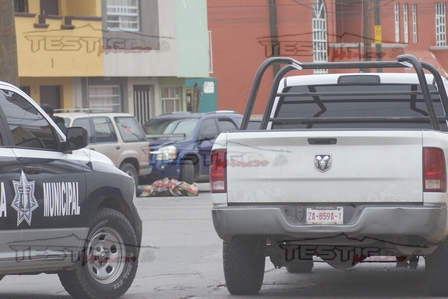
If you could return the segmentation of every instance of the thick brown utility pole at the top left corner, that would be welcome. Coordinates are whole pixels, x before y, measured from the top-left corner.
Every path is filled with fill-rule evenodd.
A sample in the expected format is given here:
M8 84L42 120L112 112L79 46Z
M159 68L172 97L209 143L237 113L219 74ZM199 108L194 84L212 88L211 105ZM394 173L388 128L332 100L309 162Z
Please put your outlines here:
M13 0L0 0L0 80L19 86Z

